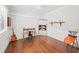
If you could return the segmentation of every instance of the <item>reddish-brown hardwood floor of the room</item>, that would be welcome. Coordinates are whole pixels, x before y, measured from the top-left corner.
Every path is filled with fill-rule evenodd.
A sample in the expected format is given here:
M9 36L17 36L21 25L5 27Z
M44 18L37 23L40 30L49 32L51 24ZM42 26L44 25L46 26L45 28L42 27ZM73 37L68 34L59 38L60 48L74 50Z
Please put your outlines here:
M67 46L63 42L48 37L35 36L32 41L20 39L10 42L5 53L77 53L78 50Z

